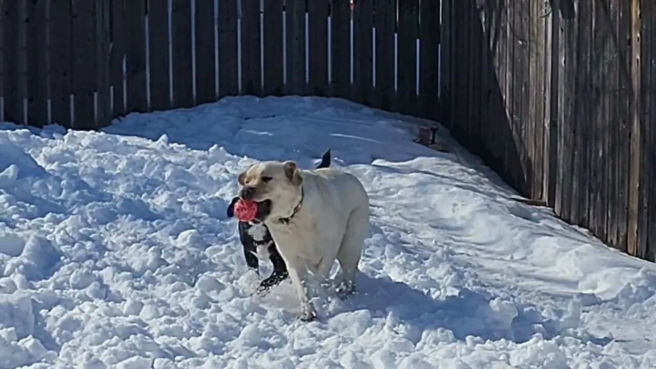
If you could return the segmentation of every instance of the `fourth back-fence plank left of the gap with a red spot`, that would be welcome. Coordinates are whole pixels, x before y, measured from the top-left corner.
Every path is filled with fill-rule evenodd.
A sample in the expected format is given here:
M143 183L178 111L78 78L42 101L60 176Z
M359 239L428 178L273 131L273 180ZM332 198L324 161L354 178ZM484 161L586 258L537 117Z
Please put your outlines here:
M312 1L316 3L316 1ZM283 5L282 0L264 1L264 95L282 95ZM325 45L324 45L325 46ZM327 78L326 78L327 79Z

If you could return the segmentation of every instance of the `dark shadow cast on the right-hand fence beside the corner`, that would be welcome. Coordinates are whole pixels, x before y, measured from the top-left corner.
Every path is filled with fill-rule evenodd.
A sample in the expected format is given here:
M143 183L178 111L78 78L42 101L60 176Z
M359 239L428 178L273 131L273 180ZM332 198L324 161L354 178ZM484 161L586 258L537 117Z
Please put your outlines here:
M487 1L484 9L478 9L475 1L452 3L455 14L483 26L455 22L451 29L455 35L451 101L447 102L451 106L449 129L506 183L530 196L533 162L518 137L525 122L512 111L516 71L508 65L512 58L509 60L507 47L500 42L501 32L506 32L503 15L507 1Z

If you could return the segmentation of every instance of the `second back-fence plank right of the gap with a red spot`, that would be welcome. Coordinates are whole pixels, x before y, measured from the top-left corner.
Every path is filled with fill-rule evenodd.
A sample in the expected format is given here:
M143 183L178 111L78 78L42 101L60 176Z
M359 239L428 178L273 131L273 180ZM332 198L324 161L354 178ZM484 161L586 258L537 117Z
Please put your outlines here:
M375 0L376 98L374 104L382 110L390 110L394 98L395 9L396 0Z

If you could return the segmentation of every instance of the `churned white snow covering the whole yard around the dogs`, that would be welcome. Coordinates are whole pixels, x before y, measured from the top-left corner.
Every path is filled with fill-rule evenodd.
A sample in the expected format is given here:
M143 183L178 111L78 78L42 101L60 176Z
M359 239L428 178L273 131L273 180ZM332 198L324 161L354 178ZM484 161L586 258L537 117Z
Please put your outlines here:
M444 130L447 153L413 143L422 124L301 97L2 123L0 367L656 367L656 266L512 200ZM358 294L320 291L306 324L288 281L251 295L226 207L255 160L327 148L372 225Z

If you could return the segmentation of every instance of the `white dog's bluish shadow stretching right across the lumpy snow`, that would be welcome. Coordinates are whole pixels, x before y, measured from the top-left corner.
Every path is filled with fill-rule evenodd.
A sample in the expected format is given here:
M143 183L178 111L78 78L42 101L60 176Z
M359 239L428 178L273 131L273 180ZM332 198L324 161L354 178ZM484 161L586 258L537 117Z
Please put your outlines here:
M495 305L482 293L461 288L456 295L433 298L403 282L388 276L374 278L364 273L357 277L358 292L338 303L323 303L323 320L329 324L340 314L366 310L373 318L392 319L413 332L413 341L419 341L424 332L437 332L440 328L453 332L455 339L464 341L474 336L483 341L508 339L516 343L528 341L537 332L545 339L565 334L567 326L560 321L543 318L529 305ZM494 308L492 306L495 306ZM571 328L571 327L570 327ZM568 330L569 336L577 334ZM598 345L610 341L607 337L588 334L577 338ZM415 342L417 343L417 342Z

